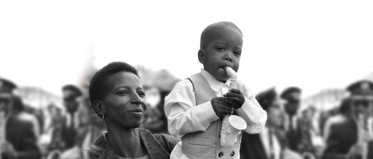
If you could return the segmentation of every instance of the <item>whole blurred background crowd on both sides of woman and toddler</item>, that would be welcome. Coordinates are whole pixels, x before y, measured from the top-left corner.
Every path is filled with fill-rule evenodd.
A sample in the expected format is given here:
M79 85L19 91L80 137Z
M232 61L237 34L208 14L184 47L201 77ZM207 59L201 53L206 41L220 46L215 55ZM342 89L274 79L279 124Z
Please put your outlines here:
M162 74L156 84L142 81L148 108L140 128L153 134L169 134L164 97L180 81L169 78ZM91 107L88 87L65 85L62 104L50 102L44 107L28 106L14 93L17 87L0 78L0 159L84 158L84 149L106 130ZM298 87L257 93L267 123L259 134L243 132L241 158L373 158L373 82L357 81L346 91L349 95L341 104L327 111L302 105Z

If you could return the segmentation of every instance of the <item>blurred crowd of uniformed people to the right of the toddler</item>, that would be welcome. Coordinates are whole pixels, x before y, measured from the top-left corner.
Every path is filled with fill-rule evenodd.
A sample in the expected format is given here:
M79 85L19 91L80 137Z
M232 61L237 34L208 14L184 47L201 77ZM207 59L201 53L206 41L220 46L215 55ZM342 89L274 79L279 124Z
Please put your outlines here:
M257 94L268 118L263 132L244 132L241 158L372 159L373 82L360 80L346 91L339 106L328 111L302 107L298 87Z

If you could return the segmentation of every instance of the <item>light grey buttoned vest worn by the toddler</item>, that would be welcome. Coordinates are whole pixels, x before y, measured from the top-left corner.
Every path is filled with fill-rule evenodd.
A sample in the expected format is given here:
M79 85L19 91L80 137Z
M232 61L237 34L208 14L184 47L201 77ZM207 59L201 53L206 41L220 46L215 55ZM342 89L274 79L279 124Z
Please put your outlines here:
M194 87L196 105L211 101L217 97L211 89L206 78L202 74L195 74L188 78ZM237 88L247 97L247 90L241 82L237 82ZM206 132L198 131L186 133L182 138L183 153L193 159L239 159L239 147L241 145L241 134L237 136L237 142L230 147L220 146L220 130L222 119L213 121Z

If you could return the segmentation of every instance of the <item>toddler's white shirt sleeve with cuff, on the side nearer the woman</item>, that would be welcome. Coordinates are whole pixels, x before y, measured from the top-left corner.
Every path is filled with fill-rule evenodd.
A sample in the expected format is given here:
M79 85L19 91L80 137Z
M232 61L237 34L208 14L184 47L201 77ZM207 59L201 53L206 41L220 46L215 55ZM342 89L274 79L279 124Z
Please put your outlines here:
M176 84L164 103L169 133L178 138L186 133L206 132L211 122L219 119L211 101L196 106L194 88L189 80Z

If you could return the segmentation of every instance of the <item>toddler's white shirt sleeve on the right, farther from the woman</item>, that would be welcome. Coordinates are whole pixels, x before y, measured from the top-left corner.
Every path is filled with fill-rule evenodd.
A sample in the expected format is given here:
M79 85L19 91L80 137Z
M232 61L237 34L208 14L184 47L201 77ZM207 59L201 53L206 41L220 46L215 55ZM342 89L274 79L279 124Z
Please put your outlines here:
M236 110L236 113L247 123L245 132L249 134L257 134L263 131L264 125L267 121L267 112L263 110L255 99L255 95L250 88L246 85L244 85L244 87L248 92L248 98L245 97L244 104L242 104L241 108Z

